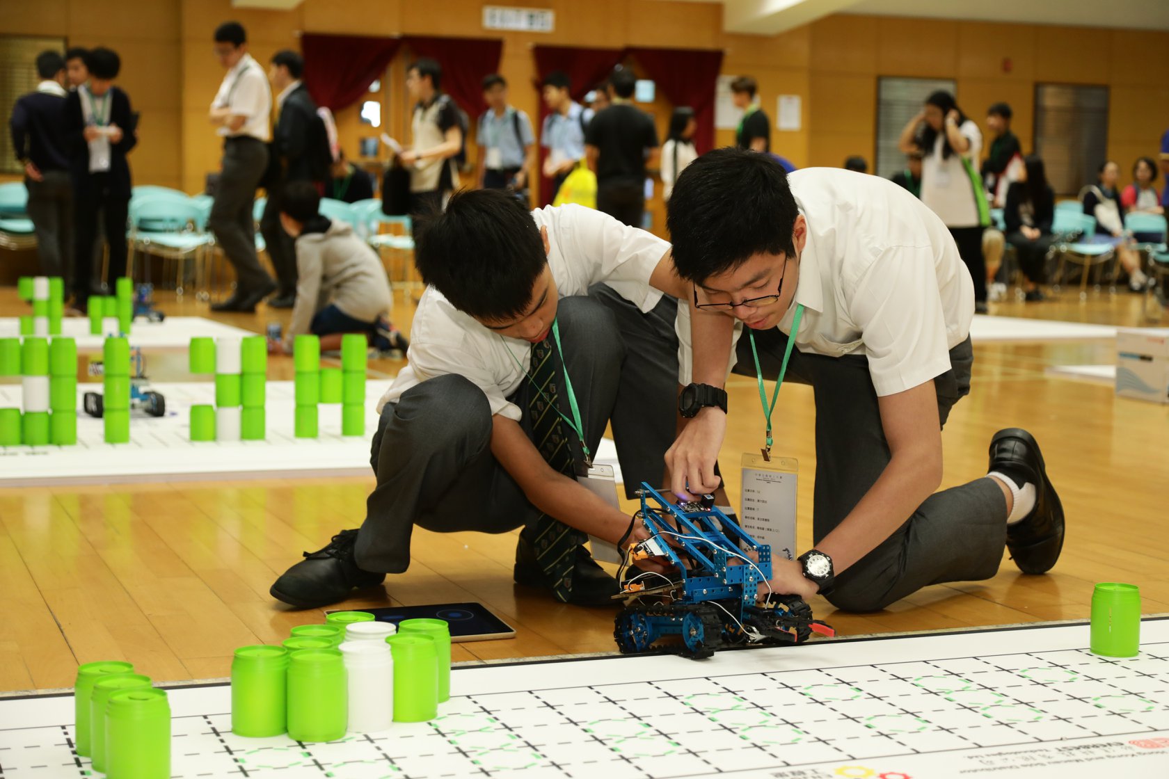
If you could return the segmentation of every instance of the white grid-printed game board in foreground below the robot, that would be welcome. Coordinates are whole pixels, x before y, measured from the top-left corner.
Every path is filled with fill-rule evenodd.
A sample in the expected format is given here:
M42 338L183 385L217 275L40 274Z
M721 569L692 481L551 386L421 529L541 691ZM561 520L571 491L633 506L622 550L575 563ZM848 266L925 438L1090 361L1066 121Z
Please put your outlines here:
M1164 779L1169 620L1130 660L1029 626L451 674L430 723L328 744L230 732L226 686L171 691L172 775L255 779ZM72 697L0 700L0 775L91 775Z

